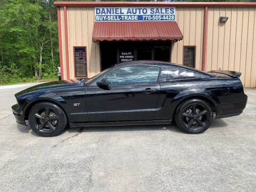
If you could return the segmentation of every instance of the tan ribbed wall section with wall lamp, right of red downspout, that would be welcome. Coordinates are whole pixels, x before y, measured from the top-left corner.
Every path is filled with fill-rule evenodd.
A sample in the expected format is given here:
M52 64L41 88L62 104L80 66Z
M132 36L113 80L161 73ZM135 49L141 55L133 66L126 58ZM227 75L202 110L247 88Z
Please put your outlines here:
M244 86L256 86L256 9L214 8L208 12L206 64L207 70L240 71ZM226 23L219 22L228 17Z

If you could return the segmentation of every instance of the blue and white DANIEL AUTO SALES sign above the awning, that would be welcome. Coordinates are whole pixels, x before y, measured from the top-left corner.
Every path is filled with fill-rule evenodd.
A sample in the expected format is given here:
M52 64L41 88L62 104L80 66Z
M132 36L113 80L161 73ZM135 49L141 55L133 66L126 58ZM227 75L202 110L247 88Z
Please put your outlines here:
M175 7L95 7L95 21L175 21Z

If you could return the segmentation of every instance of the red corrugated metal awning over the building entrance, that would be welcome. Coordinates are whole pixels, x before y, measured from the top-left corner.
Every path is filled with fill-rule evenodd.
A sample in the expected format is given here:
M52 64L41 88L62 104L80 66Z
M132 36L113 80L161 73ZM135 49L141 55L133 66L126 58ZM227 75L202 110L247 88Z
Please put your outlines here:
M94 22L92 41L174 40L183 38L175 21Z

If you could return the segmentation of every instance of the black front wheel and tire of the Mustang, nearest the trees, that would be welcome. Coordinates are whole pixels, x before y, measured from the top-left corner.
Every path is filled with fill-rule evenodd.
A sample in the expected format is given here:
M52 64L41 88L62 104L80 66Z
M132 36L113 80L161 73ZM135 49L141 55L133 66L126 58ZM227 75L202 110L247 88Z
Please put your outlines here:
M54 137L65 129L68 121L59 106L51 102L39 102L30 109L28 122L36 134Z

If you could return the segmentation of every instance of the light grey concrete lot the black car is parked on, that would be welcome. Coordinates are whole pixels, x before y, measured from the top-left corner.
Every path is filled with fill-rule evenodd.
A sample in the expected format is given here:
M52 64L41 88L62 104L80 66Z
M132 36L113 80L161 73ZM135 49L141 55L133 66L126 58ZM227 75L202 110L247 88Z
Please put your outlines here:
M38 137L15 122L0 86L0 191L255 191L256 89L240 116L203 134L170 126L69 129Z

